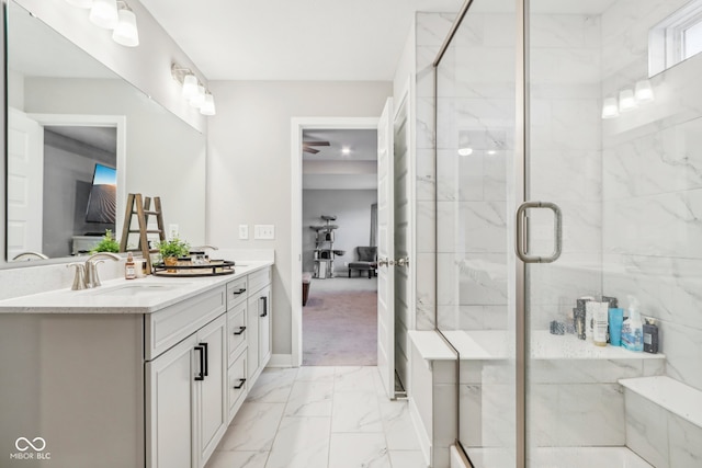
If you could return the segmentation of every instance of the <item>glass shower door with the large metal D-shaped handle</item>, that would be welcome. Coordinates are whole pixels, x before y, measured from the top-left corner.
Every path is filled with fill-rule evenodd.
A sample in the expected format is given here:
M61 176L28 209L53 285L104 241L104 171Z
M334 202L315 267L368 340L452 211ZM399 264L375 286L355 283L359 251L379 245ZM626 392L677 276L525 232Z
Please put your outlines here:
M665 414L645 416L626 381L702 387L699 349L678 349L702 328L680 310L699 308L684 298L702 271L702 56L649 76L657 28L686 3L528 2L524 198L563 216L561 256L525 264L529 467L683 466ZM548 255L553 212L525 213L524 250ZM610 309L633 304L658 321L666 358L608 342Z

